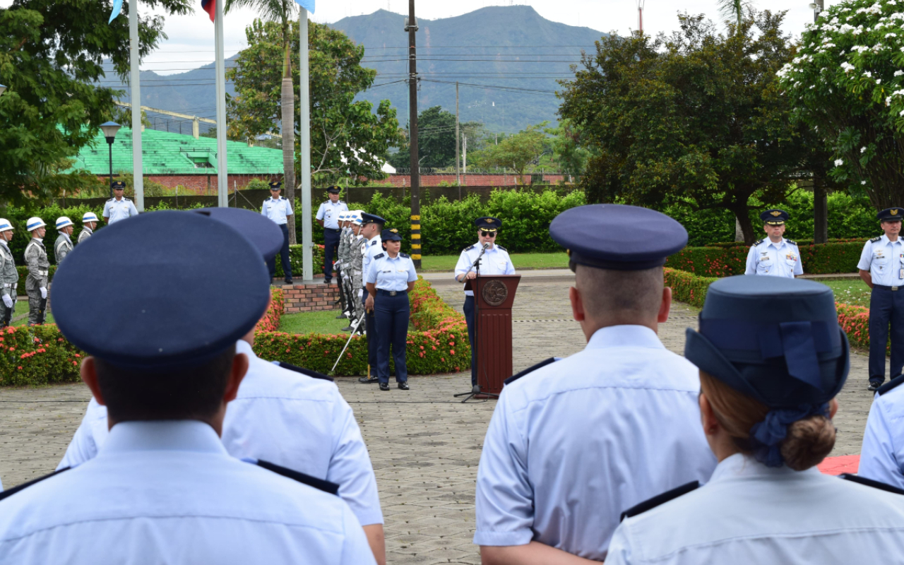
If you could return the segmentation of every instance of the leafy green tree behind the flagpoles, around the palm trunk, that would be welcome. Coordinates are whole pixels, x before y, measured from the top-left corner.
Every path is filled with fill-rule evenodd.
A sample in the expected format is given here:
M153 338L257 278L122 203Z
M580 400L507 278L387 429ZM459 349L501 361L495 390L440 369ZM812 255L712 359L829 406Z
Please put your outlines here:
M248 48L236 58L227 77L235 84L236 96L227 99L230 135L249 139L274 129L281 99L281 28L255 20L245 30ZM289 52L294 83L298 82L298 24L289 23ZM345 177L353 184L360 178L381 179L383 159L391 146L401 141L399 120L389 100L376 113L370 102L355 96L370 88L376 71L361 66L364 48L342 32L324 24L308 22L311 95L311 174L323 184ZM295 96L298 97L297 86ZM295 128L300 130L300 117ZM286 143L285 137L283 138ZM298 138L296 152L300 152ZM298 159L295 159L296 165Z

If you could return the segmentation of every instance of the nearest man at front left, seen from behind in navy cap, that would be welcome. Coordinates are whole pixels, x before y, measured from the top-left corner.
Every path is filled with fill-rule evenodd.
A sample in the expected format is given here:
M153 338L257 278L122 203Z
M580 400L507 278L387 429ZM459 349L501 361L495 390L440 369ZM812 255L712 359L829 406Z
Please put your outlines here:
M249 367L235 344L266 310L268 283L259 250L200 213L139 216L72 251L54 315L89 354L81 376L108 408L109 437L98 457L5 491L0 560L374 563L336 485L221 444Z

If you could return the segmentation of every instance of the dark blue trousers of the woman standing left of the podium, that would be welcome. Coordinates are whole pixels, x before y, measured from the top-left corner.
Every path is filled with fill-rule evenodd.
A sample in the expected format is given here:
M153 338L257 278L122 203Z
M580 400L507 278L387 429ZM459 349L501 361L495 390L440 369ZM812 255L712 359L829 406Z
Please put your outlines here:
M377 314L377 378L381 382L390 381L390 346L392 361L395 362L396 381L408 381L408 367L405 365L405 342L408 340L410 306L408 293L399 291L394 297L384 294L379 288L373 309Z

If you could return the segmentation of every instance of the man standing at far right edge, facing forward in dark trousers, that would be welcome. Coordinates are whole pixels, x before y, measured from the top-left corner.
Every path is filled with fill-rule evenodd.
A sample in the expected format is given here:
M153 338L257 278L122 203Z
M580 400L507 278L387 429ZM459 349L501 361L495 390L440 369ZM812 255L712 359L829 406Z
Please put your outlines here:
M904 241L900 239L904 208L887 208L878 214L885 235L863 245L857 269L871 288L870 294L870 391L885 381L885 351L891 325L890 375L904 368Z

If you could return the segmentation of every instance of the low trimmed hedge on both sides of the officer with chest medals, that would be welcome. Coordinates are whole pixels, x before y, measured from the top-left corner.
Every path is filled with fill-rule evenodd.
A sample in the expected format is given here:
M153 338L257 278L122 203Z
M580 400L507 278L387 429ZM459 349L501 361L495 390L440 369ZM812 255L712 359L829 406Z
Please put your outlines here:
M850 242L799 244L804 272L808 275L857 272L857 262L865 240ZM686 247L666 261L666 267L678 268L703 277L743 275L749 247Z

